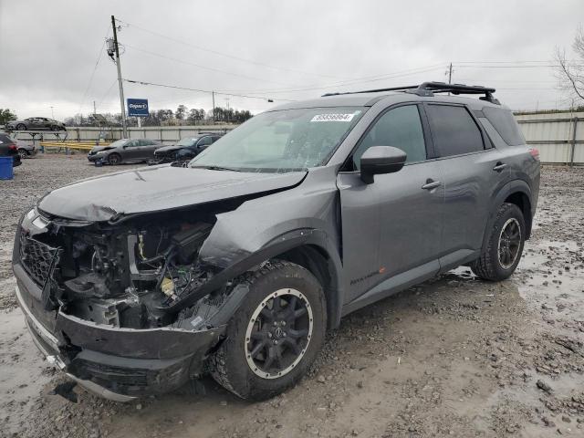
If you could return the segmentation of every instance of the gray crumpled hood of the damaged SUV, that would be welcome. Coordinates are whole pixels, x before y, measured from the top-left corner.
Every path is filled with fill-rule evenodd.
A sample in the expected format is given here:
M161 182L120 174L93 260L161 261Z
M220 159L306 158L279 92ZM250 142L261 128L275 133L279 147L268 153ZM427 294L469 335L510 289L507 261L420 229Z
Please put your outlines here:
M108 221L249 194L283 190L307 172L251 173L152 166L108 173L47 193L38 207L79 221Z

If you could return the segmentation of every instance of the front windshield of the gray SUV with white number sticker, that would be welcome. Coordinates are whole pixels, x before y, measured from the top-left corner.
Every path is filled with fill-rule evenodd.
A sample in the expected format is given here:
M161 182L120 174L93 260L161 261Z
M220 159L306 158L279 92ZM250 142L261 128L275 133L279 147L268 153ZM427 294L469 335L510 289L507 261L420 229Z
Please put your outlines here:
M322 166L365 112L309 108L259 114L189 163L241 172L293 172Z

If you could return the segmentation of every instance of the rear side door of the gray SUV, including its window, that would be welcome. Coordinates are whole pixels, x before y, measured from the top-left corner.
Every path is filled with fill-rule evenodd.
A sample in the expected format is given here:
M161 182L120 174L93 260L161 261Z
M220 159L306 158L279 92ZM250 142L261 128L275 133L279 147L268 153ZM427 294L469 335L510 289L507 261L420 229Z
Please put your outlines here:
M443 174L443 268L481 248L490 205L508 181L504 154L463 105L427 104L437 164Z

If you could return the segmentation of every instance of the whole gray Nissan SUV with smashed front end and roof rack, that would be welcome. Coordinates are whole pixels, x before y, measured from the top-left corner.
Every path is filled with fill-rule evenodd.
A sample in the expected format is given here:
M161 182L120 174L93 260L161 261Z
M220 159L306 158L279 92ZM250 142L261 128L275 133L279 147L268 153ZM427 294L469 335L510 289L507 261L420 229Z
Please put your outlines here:
M113 400L205 372L259 400L297 382L358 308L461 265L505 279L539 160L494 91L429 82L294 102L187 167L47 193L14 248L33 339Z

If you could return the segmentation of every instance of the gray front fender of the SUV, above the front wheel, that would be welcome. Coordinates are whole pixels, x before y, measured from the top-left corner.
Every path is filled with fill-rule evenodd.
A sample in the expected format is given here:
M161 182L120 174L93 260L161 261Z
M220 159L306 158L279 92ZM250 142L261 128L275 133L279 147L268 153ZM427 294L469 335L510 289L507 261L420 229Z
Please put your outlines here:
M338 321L343 303L339 237L339 196L328 169L311 171L297 187L251 199L216 215L211 234L199 251L214 277L188 297L162 311L176 312L266 260L310 245L328 259L330 320ZM333 182L333 183L331 183ZM323 285L324 286L324 285Z

